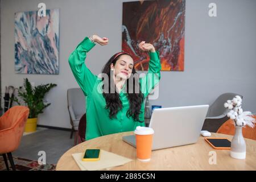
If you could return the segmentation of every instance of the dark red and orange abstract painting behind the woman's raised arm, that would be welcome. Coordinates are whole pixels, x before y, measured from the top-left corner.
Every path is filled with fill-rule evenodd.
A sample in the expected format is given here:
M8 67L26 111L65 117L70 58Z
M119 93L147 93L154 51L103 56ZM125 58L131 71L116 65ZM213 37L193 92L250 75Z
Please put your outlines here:
M185 0L123 2L122 50L137 71L148 70L149 55L138 44L159 51L162 71L184 71Z

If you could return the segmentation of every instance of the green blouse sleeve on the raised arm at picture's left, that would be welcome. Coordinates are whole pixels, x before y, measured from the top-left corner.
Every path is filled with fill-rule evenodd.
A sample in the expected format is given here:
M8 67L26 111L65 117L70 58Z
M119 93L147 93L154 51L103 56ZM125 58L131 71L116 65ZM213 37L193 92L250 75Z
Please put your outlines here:
M76 47L75 51L71 53L68 59L72 73L85 96L92 93L93 86L97 80L97 76L93 75L93 73L90 72L84 63L86 53L89 52L90 49L92 49L95 45L96 44L92 43L88 37L85 37L85 39L82 40L82 42Z

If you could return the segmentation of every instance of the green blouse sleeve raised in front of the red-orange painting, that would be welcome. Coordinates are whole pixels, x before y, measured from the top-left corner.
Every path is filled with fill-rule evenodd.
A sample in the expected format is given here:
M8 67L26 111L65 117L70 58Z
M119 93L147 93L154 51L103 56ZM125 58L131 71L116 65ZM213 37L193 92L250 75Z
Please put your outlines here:
M144 97L155 88L155 86L159 83L160 80L160 70L162 68L160 63L159 52L149 52L150 61L148 65L148 72L146 76L139 78L141 84L141 91L144 94Z

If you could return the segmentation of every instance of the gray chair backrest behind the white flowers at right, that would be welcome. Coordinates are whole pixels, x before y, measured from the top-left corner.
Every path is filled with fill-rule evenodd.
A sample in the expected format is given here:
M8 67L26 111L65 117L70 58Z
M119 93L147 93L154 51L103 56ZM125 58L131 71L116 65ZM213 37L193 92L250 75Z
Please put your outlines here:
M227 100L232 100L235 96L240 96L241 98L243 98L243 96L237 93L224 93L218 96L218 98L213 102L213 104L210 105L207 117L214 117L224 114L227 111L227 109L224 107L224 103Z

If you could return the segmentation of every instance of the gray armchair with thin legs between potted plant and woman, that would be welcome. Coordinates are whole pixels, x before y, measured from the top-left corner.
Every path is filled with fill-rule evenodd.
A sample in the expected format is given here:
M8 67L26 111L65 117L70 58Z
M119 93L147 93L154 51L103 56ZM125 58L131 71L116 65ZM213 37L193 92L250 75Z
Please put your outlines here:
M77 144L77 130L79 127L79 121L85 110L85 96L80 88L68 89L68 111L70 116L70 123L72 126L71 136L75 132L74 146Z

